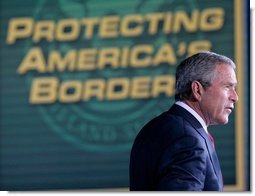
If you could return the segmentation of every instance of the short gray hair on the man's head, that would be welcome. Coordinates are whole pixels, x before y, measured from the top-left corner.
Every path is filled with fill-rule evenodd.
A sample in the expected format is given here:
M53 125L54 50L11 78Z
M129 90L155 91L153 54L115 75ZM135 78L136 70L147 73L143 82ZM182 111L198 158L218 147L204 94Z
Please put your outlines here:
M235 63L226 56L213 52L200 52L184 59L176 69L175 100L183 101L191 95L191 83L199 81L204 88L215 78L216 65L227 64L234 70Z

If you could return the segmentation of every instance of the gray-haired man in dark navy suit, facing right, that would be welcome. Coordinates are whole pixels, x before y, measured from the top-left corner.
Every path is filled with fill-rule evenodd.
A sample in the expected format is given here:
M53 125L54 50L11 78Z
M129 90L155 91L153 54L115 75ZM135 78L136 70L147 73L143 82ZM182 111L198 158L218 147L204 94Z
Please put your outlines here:
M226 124L238 100L235 64L201 52L176 70L176 103L138 133L130 156L130 190L222 191L209 125Z

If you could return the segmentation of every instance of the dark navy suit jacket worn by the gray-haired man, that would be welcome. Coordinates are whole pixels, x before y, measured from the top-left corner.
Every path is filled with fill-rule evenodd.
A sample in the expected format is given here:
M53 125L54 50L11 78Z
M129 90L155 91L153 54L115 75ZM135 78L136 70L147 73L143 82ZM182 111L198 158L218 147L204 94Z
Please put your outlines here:
M131 191L222 191L214 146L199 121L174 104L138 133L130 156Z

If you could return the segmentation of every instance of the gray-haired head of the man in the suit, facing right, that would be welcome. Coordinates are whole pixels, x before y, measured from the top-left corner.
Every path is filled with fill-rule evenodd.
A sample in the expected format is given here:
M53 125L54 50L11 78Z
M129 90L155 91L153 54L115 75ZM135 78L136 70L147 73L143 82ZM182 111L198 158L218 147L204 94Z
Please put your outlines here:
M226 124L238 100L234 62L212 52L183 60L176 70L175 99L190 105L207 125Z

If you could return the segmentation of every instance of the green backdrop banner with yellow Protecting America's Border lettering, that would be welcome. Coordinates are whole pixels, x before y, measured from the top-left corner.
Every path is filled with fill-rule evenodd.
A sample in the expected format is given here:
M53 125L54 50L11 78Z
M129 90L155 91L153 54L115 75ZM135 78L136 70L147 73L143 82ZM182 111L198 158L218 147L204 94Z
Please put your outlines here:
M128 190L135 136L174 103L178 63L202 50L237 65L237 107L209 129L225 190L243 190L242 7L1 1L1 190Z

